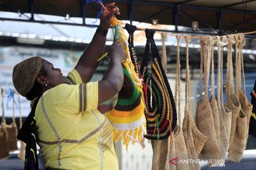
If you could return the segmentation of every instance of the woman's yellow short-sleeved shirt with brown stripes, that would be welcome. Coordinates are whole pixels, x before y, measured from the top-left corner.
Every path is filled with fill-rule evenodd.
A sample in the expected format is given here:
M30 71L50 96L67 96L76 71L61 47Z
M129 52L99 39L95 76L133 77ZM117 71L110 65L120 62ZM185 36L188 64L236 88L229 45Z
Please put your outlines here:
M46 167L118 169L110 122L97 111L98 82L82 84L75 69L67 78L74 85L55 86L36 106L38 145Z

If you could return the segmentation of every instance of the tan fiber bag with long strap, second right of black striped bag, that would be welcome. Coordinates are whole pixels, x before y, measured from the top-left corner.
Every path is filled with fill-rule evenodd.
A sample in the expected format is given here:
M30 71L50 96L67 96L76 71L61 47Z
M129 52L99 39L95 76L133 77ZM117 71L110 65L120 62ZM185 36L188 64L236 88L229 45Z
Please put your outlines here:
M177 39L177 64L176 64L176 85L175 85L175 101L176 101L176 109L178 113L178 124L174 129L174 145L175 145L175 156L171 157L170 160L177 158L176 161L176 169L183 170L188 169L188 164L180 162L180 159L188 159L188 152L186 149L186 143L183 136L182 131L182 122L181 120L181 64L180 64L180 42L181 35L176 35ZM170 164L171 165L171 164ZM171 169L171 168L170 168Z

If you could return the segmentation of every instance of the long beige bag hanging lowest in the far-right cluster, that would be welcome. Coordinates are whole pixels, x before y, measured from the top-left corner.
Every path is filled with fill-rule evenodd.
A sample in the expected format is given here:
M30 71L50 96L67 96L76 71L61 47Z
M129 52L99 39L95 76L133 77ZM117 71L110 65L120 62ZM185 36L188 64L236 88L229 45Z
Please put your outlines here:
M228 158L233 162L240 162L242 159L242 154L245 150L247 143L247 135L249 128L249 120L250 113L252 112L252 105L248 104L247 98L244 94L245 91L245 83L244 91L241 90L241 65L242 64L242 46L245 45L244 36L235 35L235 66L236 66L236 94L238 94L241 110L240 115L237 120L237 128L235 130L235 136L232 145L230 146L230 150L228 153ZM239 55L238 55L238 45L239 45ZM243 68L242 68L242 74ZM244 76L242 77L243 81L245 81Z

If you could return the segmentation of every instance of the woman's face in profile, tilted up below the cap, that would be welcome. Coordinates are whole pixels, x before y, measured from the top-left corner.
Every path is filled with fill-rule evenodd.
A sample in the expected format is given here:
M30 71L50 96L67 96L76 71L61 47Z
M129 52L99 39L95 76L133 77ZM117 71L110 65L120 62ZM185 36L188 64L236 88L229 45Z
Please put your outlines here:
M68 80L63 76L60 69L53 67L53 64L44 60L43 69L46 71L46 81L48 86L55 87L59 84L68 84Z

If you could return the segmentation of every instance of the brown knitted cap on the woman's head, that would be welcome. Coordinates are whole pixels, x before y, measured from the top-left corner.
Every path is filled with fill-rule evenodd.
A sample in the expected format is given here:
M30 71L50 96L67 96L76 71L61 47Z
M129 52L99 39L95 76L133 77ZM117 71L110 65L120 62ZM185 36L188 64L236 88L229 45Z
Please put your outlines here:
M31 57L16 64L13 70L13 83L21 96L26 96L33 88L43 65L43 58Z

